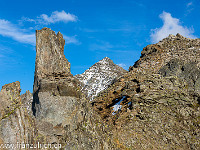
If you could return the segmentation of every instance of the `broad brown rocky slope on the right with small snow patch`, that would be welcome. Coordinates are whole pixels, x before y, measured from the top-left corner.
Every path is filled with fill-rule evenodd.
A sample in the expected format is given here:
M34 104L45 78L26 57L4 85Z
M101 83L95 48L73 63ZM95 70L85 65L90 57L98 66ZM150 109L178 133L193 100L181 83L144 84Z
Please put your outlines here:
M169 36L93 101L124 149L200 149L200 40Z

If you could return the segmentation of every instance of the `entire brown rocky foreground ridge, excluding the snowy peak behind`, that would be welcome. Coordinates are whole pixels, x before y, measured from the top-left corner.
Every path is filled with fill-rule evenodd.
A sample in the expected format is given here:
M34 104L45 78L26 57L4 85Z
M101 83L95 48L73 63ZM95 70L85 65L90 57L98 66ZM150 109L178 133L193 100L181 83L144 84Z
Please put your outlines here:
M44 28L36 37L33 108L32 94L20 96L19 82L2 87L0 144L200 149L199 39L177 34L148 45L129 72L90 102L70 73L62 34Z

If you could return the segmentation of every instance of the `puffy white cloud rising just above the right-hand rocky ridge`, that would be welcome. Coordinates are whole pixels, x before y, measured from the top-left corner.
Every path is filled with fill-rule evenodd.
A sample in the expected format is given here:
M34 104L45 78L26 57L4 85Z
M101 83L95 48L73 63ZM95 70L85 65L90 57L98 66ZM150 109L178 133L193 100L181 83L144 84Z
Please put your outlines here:
M179 19L173 18L170 13L164 12L159 15L163 21L163 26L161 28L156 28L151 31L151 40L156 43L163 38L169 36L169 34L176 35L180 33L181 35L188 38L196 38L193 33L192 28L184 27L180 24Z

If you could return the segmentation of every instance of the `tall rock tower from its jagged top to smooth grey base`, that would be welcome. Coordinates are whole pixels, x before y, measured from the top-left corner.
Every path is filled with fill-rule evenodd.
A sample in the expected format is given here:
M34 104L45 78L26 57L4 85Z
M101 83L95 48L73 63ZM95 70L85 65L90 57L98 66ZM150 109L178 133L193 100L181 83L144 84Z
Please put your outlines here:
M79 97L77 82L64 56L65 40L48 28L36 31L33 113L55 124L63 123ZM61 115L62 114L62 115ZM57 118L57 119L56 119ZM60 118L60 119L59 119Z

